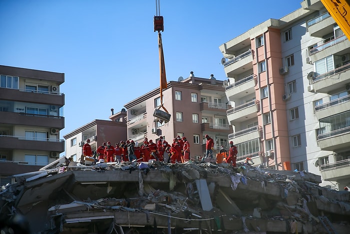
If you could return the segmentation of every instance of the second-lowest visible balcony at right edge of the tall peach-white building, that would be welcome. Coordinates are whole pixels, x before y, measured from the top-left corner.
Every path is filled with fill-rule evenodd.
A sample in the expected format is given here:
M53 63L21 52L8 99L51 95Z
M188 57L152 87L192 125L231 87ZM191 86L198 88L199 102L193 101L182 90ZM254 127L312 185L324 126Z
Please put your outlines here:
M318 145L321 150L336 151L350 147L350 126L319 134Z

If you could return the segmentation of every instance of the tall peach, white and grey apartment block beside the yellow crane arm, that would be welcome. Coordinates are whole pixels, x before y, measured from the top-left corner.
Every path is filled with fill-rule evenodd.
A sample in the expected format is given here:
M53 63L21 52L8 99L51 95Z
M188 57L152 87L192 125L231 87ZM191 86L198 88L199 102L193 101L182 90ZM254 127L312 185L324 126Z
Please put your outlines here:
M219 49L238 159L349 186L350 42L322 3L302 1Z

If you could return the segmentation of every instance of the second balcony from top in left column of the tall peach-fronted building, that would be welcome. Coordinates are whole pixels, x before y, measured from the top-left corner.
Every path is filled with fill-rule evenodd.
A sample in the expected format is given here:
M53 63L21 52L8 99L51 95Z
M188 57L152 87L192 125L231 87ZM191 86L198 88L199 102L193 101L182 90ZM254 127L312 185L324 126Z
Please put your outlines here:
M233 96L235 99L240 99L245 96L247 93L253 93L254 87L256 84L256 79L254 75L251 74L243 79L240 79L233 84L225 87L225 93L228 99L231 99Z

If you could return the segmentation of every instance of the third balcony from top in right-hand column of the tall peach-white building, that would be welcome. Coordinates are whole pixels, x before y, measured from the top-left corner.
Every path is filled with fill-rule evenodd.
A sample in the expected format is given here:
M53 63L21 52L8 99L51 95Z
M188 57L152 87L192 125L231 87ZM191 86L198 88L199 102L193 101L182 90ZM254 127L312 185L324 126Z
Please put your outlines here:
M350 82L350 64L344 65L327 73L316 76L312 87L317 93L329 93L335 89L345 89Z

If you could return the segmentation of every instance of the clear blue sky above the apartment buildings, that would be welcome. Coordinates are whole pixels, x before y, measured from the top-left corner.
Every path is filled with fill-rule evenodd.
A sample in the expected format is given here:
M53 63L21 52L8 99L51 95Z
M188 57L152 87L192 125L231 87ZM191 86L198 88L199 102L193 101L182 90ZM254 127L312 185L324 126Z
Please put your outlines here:
M218 47L301 0L161 0L167 81L226 76ZM65 74L60 138L159 86L155 1L0 0L0 65Z

